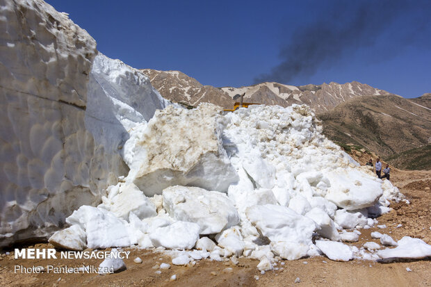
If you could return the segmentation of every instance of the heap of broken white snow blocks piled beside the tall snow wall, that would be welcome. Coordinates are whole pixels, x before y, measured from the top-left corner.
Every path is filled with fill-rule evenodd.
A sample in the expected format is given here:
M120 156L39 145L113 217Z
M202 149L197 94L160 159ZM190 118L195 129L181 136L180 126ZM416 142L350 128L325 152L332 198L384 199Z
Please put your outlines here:
M396 189L322 136L307 106L168 106L131 129L122 155L129 174L51 243L169 249L174 265L247 256L262 272L278 259L348 261L370 255L341 243L360 234L343 228L374 226L368 209Z

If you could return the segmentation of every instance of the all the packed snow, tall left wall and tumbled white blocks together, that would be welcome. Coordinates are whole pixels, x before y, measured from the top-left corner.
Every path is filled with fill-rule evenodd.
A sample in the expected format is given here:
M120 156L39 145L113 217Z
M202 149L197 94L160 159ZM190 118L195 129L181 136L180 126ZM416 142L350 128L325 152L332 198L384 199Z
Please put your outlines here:
M32 43L24 47L14 33L2 41L0 247L51 236L71 250L155 249L174 265L245 256L261 272L280 258L322 254L430 256L430 245L414 238L377 254L340 242L357 241L360 232L345 229L373 227L403 196L327 140L309 107L253 105L223 115L212 104L171 105L140 71L98 53L66 15L31 3L17 4L34 19L29 27L18 25L9 3L0 19ZM14 60L24 56L26 65Z

